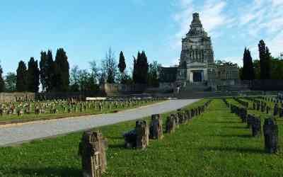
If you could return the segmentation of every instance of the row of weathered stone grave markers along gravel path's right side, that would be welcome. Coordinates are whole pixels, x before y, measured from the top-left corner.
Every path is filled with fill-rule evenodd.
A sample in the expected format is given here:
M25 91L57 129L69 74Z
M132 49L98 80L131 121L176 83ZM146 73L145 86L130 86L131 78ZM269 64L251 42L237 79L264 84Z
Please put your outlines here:
M187 123L197 115L204 113L211 101L207 101L197 108L190 110L178 110L166 120L166 132L173 133L179 125ZM149 139L163 138L163 121L161 115L151 115L150 126L146 120L137 120L134 130L126 132L125 148L145 149L149 145ZM83 177L100 177L106 171L107 141L99 131L86 131L79 143L79 155L82 159Z

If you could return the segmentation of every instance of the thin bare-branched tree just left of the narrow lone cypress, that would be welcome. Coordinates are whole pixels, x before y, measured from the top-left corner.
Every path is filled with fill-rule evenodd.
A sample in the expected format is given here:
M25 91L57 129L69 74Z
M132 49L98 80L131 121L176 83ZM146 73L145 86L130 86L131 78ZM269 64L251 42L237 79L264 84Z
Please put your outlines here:
M106 76L106 81L110 84L115 83L116 75L117 75L117 63L115 61L114 52L112 52L111 48L109 48L108 52L106 52L105 59L102 61L102 73Z

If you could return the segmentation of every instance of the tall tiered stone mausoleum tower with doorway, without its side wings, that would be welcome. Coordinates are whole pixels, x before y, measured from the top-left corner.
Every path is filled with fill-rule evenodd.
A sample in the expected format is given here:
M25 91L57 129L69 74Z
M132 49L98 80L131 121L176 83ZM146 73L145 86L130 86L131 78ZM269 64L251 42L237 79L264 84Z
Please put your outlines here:
M190 31L182 40L177 80L181 83L201 84L209 80L209 66L213 65L212 40L202 27L199 13L193 13Z

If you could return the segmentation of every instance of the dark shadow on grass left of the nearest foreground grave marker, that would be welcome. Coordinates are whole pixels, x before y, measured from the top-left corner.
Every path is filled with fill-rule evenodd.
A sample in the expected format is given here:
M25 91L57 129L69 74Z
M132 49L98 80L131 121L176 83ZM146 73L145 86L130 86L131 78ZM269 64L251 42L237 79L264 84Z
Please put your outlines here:
M75 168L42 168L42 169L13 169L12 175L21 176L62 176L62 177L76 177L82 176L81 169Z

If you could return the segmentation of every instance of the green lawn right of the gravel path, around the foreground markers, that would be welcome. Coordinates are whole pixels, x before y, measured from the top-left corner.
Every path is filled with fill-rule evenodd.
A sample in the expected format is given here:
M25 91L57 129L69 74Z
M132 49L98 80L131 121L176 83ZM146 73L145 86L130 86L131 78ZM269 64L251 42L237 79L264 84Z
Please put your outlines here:
M168 115L162 115L163 130ZM277 123L282 148L283 119ZM263 135L251 137L246 124L221 99L214 99L204 114L175 133L150 140L145 150L124 148L122 134L134 126L135 121L129 121L98 128L108 139L108 169L103 176L283 176L282 149L266 154ZM81 176L81 136L77 132L1 147L0 176Z

